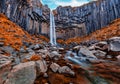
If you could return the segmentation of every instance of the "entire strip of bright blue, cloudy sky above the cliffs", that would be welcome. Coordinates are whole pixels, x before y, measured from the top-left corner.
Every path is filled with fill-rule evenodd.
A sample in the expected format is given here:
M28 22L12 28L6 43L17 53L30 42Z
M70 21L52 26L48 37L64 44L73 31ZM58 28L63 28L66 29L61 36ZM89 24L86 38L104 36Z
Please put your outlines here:
M95 0L41 0L42 4L48 5L48 7L53 10L57 8L58 6L81 6L85 3L88 3L90 1L95 1Z

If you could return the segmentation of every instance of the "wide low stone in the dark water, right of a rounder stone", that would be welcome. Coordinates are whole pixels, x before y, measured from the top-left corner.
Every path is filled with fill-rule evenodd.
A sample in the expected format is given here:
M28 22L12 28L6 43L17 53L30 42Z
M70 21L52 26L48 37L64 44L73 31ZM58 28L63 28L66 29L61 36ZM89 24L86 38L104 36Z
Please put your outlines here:
M63 73L63 74L70 74L72 76L75 75L75 72L73 72L68 66L63 66L63 67L60 67L58 69L58 72L59 73Z

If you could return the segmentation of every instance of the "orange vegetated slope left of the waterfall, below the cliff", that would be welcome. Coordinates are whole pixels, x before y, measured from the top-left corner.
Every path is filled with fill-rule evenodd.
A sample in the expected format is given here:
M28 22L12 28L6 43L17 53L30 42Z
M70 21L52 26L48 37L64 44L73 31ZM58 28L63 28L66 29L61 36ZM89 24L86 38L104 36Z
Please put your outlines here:
M6 46L12 46L19 50L24 42L41 42L35 36L31 36L24 31L20 26L11 22L4 14L0 14L0 42Z

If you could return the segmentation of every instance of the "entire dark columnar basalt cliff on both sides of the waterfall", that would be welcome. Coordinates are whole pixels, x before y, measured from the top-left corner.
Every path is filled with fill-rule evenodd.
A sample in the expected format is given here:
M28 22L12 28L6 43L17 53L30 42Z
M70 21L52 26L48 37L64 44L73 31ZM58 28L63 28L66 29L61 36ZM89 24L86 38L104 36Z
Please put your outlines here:
M49 36L50 9L40 0L0 0L0 13L31 34ZM57 38L84 36L120 18L120 0L98 0L54 10Z

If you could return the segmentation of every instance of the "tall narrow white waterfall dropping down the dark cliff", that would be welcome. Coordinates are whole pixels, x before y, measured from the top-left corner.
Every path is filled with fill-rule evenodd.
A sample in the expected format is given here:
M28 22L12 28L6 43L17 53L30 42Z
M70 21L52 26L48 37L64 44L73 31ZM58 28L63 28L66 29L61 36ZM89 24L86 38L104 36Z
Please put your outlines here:
M55 20L52 11L50 12L50 43L51 45L56 45L56 30L55 30Z

